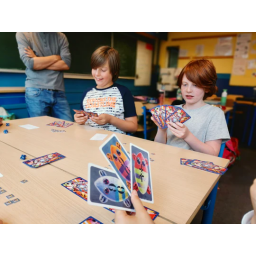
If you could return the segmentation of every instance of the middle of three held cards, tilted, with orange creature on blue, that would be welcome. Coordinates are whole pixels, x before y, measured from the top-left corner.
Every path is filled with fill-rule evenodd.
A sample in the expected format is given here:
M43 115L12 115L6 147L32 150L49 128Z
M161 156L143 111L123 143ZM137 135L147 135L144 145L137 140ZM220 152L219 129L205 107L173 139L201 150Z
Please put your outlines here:
M130 156L115 134L100 146L100 151L113 167L128 193L131 194Z

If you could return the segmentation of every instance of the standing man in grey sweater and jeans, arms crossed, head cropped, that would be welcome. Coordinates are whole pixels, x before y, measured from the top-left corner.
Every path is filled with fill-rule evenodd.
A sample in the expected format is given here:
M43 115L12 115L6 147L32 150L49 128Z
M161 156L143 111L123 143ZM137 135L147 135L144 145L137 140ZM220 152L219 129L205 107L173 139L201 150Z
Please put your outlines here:
M26 66L25 99L30 117L47 115L72 121L63 79L63 71L71 64L67 37L59 32L18 32L16 40Z

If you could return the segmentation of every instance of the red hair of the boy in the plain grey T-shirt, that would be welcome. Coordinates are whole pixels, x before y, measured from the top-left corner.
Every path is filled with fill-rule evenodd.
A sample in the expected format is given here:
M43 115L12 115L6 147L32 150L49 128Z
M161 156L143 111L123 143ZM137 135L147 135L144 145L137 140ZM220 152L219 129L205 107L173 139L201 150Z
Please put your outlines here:
M204 100L217 92L217 73L213 63L209 60L200 59L190 61L180 72L178 86L181 88L182 78L187 79L199 88L204 89Z

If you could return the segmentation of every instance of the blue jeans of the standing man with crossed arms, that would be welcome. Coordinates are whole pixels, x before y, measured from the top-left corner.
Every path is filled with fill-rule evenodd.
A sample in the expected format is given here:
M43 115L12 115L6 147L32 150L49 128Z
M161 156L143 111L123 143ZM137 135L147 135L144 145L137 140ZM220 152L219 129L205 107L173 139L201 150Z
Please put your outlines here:
M52 116L73 121L69 104L63 91L48 91L26 87L25 99L30 117Z

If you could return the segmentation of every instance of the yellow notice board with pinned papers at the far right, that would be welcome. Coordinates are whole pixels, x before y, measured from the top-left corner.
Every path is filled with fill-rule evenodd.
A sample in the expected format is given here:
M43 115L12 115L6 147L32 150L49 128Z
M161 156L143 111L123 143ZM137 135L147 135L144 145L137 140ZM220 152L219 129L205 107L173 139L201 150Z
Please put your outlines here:
M239 38L241 36L249 36L249 43L246 43L247 39L243 42ZM235 41L236 48L230 85L256 86L256 33L237 34ZM246 49L247 47L248 49Z

